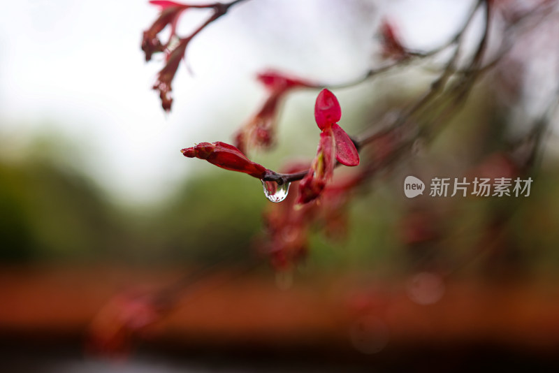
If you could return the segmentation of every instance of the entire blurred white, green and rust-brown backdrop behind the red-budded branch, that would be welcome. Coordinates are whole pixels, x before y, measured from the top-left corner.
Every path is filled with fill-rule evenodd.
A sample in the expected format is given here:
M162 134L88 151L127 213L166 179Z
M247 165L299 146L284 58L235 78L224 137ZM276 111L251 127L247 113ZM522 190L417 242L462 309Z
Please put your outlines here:
M528 198L408 200L402 180L509 172L507 146L558 89L557 17L518 43L432 145L358 193L343 237L317 228L290 275L255 248L270 204L258 180L179 152L230 141L263 101L254 79L263 68L351 80L381 61L383 17L406 45L428 50L473 3L247 1L189 45L169 114L150 89L161 65L140 51L157 15L147 1L1 3L0 356L9 371L553 367L557 115ZM187 12L180 32L207 16ZM341 124L374 126L433 76L412 66L335 90ZM278 146L256 161L278 169L312 158L316 94L288 96ZM168 286L180 288L177 305L134 338L126 363L87 352L92 320L115 295Z

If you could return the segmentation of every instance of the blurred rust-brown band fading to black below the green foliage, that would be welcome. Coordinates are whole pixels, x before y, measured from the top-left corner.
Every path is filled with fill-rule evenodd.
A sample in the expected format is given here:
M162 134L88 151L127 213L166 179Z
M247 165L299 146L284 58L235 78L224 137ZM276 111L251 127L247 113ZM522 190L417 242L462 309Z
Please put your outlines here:
M181 275L168 269L4 268L1 342L38 349L81 344L89 323L113 295L163 288ZM173 312L150 327L137 346L183 355L273 353L270 359L304 355L354 363L409 358L404 359L409 365L423 353L451 354L459 361L467 351L486 349L513 363L518 356L556 360L559 287L549 279L452 281L433 304L412 298L405 281L296 277L289 290L280 290L268 272L219 271L184 291Z

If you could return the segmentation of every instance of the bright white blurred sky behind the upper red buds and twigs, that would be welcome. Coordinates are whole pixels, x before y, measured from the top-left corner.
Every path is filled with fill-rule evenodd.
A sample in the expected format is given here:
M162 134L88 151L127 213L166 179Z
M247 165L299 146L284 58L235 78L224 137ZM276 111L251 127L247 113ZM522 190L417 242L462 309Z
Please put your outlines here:
M142 31L157 17L147 1L3 1L2 145L18 152L50 133L75 145L81 156L69 161L111 196L158 200L191 170L182 147L229 141L261 104L257 71L274 67L326 82L351 79L372 61L382 11L399 24L408 45L431 47L447 40L472 1L419 3L251 0L235 6L189 45L194 75L180 66L173 112L165 115L150 89L160 57L145 64L140 51ZM180 31L205 16L187 12ZM301 97L312 121L314 98Z

